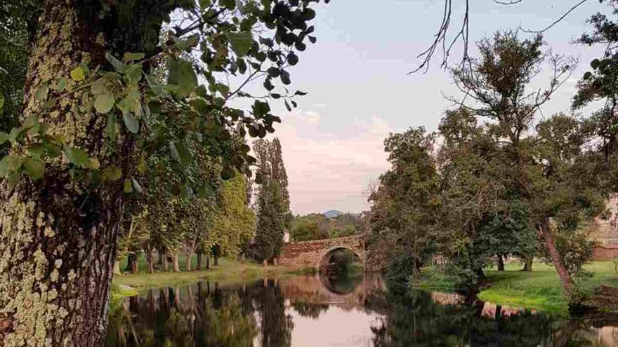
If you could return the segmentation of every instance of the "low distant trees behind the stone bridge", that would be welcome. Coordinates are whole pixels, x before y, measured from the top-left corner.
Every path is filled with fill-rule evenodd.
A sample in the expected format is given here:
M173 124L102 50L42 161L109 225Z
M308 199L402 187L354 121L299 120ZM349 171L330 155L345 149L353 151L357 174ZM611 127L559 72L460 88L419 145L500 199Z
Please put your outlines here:
M366 221L363 214L353 213L341 213L331 218L321 213L296 215L291 222L290 236L294 241L341 238L364 232Z

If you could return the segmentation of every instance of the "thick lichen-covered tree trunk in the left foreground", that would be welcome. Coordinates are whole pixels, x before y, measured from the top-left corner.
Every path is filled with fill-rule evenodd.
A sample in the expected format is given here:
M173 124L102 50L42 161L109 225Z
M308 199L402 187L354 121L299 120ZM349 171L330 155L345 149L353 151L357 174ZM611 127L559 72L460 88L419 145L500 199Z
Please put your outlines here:
M144 51L145 41L157 40L161 20L153 21L152 13L164 11L157 1L136 1L122 19L114 4L41 1L22 117L37 115L49 125L48 134L63 136L69 146L84 149L98 158L102 168L112 160L103 140L105 116L86 111L81 102L86 89L63 96L46 112L34 93L49 84L50 98L59 97L53 89L57 79L70 76L79 63L88 62L94 68L105 64L106 51L116 55ZM145 23L150 23L155 35L138 34ZM67 88L75 86L70 80ZM131 137L121 141L114 160L131 157ZM119 163L123 174L128 164ZM124 206L122 179L93 188L74 181L69 169L69 163L57 159L46 166L41 179L22 177L14 186L6 180L0 183L0 308L11 325L1 345L105 345Z

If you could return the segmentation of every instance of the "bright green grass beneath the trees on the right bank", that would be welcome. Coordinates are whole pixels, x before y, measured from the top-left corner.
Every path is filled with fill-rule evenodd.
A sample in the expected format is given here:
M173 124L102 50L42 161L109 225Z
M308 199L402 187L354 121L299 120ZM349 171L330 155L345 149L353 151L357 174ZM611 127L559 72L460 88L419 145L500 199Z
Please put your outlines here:
M618 276L612 261L594 261L586 266L592 278L579 285L592 291L599 285L618 287ZM565 313L568 301L553 266L534 264L532 272L520 271L521 266L507 264L506 271L485 271L490 285L478 295L483 301L513 307L534 308L548 313ZM452 281L434 268L423 269L423 280L414 287L426 290L454 290Z

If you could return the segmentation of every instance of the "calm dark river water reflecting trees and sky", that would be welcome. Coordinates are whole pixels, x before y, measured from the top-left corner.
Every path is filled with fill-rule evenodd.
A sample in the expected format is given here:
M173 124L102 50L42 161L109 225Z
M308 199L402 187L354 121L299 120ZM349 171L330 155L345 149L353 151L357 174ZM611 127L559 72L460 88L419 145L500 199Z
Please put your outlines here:
M607 346L618 324L388 292L379 275L200 282L114 302L107 346Z

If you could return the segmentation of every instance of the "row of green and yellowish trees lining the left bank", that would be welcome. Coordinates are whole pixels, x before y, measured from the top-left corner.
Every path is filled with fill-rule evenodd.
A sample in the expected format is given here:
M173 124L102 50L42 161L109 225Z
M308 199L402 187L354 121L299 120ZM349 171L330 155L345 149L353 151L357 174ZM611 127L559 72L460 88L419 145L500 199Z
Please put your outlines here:
M208 267L211 257L217 265L221 256L276 263L291 219L281 144L277 138L256 140L254 151L260 183L255 202L254 180L236 171L224 172L209 156L203 155L190 167L192 179L204 187L197 192L176 182L180 177L171 168L173 162L148 158L152 163L143 165L156 172L145 172L143 198L127 207L115 272L121 271L121 259L126 257L126 271L137 273L140 254L150 273L157 265L161 271L180 271L180 254L185 254L186 271L192 270L195 254L197 270Z

